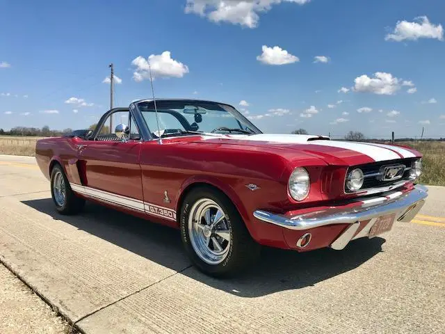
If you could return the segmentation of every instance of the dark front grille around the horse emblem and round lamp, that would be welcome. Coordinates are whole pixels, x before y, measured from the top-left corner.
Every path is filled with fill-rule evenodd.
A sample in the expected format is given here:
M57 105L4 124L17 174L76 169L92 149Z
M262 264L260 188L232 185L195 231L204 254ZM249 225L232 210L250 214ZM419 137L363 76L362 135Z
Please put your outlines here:
M348 187L346 186L347 180L345 180L344 189L345 193L354 193L354 192L360 192L365 191L367 189L373 189L373 188L380 188L384 186L390 186L391 184L394 184L396 182L401 182L403 180L409 180L410 178L410 169L412 161L414 161L415 158L410 159L398 159L393 161L379 161L374 162L372 164L364 164L364 165L357 165L348 168L348 173L350 170L354 170L355 168L360 168L364 174L364 182L361 189L358 191L350 191ZM383 181L380 180L381 174L380 174L380 168L383 166L393 166L393 165L404 165L405 171L401 178L398 180L393 181ZM348 177L348 173L346 173L346 177Z

